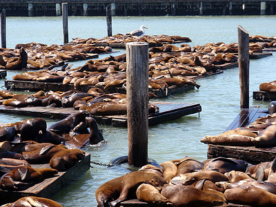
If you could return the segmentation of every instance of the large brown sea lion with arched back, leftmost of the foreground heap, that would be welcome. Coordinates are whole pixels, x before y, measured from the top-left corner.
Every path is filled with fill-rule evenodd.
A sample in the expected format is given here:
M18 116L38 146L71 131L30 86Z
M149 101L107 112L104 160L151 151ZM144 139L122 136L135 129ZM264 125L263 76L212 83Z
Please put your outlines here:
M115 206L119 202L126 200L130 190L136 191L140 184L151 184L157 190L161 190L162 186L164 186L159 176L153 173L143 171L130 172L99 186L95 193L97 203L99 207L108 204Z

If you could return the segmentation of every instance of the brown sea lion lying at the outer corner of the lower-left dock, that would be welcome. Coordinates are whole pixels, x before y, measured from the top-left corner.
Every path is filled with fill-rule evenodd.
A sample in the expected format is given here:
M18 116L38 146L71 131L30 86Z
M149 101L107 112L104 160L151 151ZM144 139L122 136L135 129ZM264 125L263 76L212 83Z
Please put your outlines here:
M50 167L59 172L66 171L85 157L86 152L78 149L61 150L50 159Z

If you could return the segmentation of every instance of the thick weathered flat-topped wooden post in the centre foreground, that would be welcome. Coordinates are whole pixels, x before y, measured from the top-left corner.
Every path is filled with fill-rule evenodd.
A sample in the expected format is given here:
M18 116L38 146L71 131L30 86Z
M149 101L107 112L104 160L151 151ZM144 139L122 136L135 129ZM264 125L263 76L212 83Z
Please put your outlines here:
M128 164L148 164L148 43L126 44Z

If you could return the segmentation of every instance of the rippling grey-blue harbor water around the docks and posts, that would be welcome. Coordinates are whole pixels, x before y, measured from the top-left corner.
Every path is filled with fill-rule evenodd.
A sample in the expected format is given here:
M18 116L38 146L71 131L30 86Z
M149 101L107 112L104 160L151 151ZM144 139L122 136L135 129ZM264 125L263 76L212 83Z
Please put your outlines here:
M63 44L61 17L7 17L7 48L17 43ZM148 27L146 34L168 34L190 37L190 46L210 42L237 43L237 26L244 27L249 35L267 37L276 35L276 16L235 16L235 17L112 17L112 34L130 32L141 25ZM75 37L106 37L106 17L68 17L69 41ZM116 50L116 49L115 49ZM125 50L112 55L120 55ZM100 55L99 59L108 55ZM73 68L86 61L74 62ZM276 80L276 52L269 57L250 60L250 107L268 108L269 101L253 100L253 91L259 84ZM8 71L6 79L22 71ZM0 80L5 90L4 80ZM200 103L199 114L187 115L175 121L168 121L148 130L148 157L159 164L163 161L181 159L185 156L199 161L206 159L207 145L200 139L206 135L218 135L228 127L240 112L239 68L224 70L196 82L199 89L158 99L177 103ZM58 90L58 88L57 88ZM0 115L1 123L22 121L30 117ZM46 119L48 126L57 120ZM106 140L97 146L85 146L91 154L91 161L108 164L111 159L128 155L127 128L99 126ZM145 146L146 147L146 146ZM52 197L62 206L97 206L95 191L101 184L130 172L127 166L99 166L92 168L81 177Z

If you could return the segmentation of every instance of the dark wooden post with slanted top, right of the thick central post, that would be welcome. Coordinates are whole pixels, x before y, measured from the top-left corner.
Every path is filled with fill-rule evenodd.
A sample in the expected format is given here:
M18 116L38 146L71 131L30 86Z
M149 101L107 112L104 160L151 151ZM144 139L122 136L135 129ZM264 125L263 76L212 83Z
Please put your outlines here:
M238 26L237 30L241 108L249 108L249 34L242 26Z

